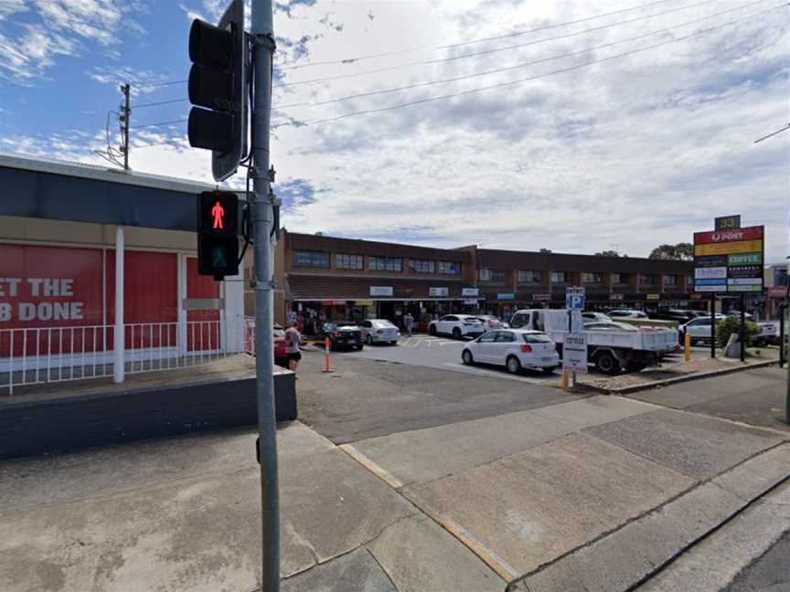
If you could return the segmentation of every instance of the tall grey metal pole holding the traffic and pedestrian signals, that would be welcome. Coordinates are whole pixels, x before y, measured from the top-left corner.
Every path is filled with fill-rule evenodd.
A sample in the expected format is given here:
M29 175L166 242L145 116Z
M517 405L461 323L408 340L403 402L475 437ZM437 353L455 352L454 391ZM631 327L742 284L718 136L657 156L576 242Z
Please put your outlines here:
M277 482L277 424L274 414L272 305L272 198L269 192L269 120L272 111L274 27L272 0L252 0L252 170L251 208L255 238L255 369L258 399L258 454L261 460L261 589L280 589L280 501ZM273 173L272 173L273 174Z

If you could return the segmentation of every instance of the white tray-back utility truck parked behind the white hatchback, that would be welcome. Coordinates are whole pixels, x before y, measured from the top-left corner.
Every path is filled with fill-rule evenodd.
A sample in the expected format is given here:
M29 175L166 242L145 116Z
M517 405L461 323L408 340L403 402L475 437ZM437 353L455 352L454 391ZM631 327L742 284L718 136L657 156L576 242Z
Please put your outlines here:
M510 319L510 326L514 329L542 331L549 335L560 350L569 329L569 313L567 309L517 311ZM587 334L587 359L599 371L610 375L618 374L623 369L637 372L659 363L663 355L676 352L680 347L678 332L665 327L592 322L584 326L583 333Z

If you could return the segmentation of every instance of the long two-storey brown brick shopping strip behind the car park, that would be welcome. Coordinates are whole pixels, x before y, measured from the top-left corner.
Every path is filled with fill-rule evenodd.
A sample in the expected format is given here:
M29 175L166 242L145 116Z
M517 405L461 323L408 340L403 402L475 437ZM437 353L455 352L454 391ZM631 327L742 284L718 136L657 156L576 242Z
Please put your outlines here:
M245 263L247 277L251 259ZM275 319L379 317L418 321L446 312L506 317L561 306L584 286L591 308L657 308L699 302L692 264L641 258L476 248L426 248L284 230L275 250ZM253 294L245 294L248 314Z

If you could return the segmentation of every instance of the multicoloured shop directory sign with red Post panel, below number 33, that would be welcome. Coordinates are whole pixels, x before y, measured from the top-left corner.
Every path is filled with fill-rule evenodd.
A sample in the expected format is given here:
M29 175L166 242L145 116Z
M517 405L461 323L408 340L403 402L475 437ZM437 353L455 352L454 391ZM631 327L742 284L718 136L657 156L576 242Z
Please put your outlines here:
M764 227L694 233L694 291L762 292Z

